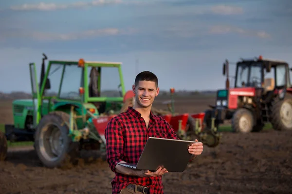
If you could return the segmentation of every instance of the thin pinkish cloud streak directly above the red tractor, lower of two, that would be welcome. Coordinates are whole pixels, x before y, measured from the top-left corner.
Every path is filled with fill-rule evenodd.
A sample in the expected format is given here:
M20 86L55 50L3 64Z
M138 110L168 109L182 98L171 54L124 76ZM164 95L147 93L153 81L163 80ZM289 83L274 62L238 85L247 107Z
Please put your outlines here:
M243 35L248 36L256 36L259 38L270 38L271 35L264 31L252 31L252 30L245 30L238 27L232 27L232 26L211 26L209 32L211 34L226 34L226 33L232 33L236 32Z

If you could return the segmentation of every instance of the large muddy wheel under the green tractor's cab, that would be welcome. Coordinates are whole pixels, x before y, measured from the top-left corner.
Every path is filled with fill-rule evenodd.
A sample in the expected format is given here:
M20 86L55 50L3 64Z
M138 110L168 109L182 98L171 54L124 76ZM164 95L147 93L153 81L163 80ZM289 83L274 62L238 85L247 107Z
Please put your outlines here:
M49 168L68 168L79 154L79 143L68 136L70 116L56 111L40 120L35 134L35 148L39 160Z

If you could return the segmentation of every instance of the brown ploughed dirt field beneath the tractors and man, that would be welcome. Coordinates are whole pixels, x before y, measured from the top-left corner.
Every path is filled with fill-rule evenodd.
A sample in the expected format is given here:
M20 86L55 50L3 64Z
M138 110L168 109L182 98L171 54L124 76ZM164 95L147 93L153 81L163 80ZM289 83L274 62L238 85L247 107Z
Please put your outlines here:
M201 112L213 103L213 98L177 100L176 112ZM157 108L164 106L156 102ZM12 112L0 110L0 123L12 121L7 113ZM292 193L291 137L292 131L273 129L244 135L225 132L218 147L205 146L183 173L164 175L164 193ZM8 160L0 162L0 193L110 194L114 174L98 157L95 152L82 152L82 160L72 169L48 169L41 166L34 150L11 151Z

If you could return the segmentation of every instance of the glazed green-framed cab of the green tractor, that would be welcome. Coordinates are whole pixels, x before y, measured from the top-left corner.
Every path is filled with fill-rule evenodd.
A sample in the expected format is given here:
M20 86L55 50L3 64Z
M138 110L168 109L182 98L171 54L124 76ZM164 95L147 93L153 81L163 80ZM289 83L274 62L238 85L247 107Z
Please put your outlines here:
M71 105L84 106L97 116L120 111L125 94L121 63L54 60L45 70L45 59L39 85L35 64L30 64L35 110L40 108L35 111L35 126L52 111L69 113Z

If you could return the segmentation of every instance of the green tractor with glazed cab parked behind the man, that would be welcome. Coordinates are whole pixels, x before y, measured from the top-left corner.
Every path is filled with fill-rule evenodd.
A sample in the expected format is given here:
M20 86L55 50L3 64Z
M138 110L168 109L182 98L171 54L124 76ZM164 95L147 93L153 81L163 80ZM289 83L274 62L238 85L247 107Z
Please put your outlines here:
M1 160L7 140L34 141L47 167L75 161L81 149L105 151L105 129L122 108L125 86L121 63L49 61L43 54L40 83L35 63L29 64L32 99L13 101L14 125L0 134Z

